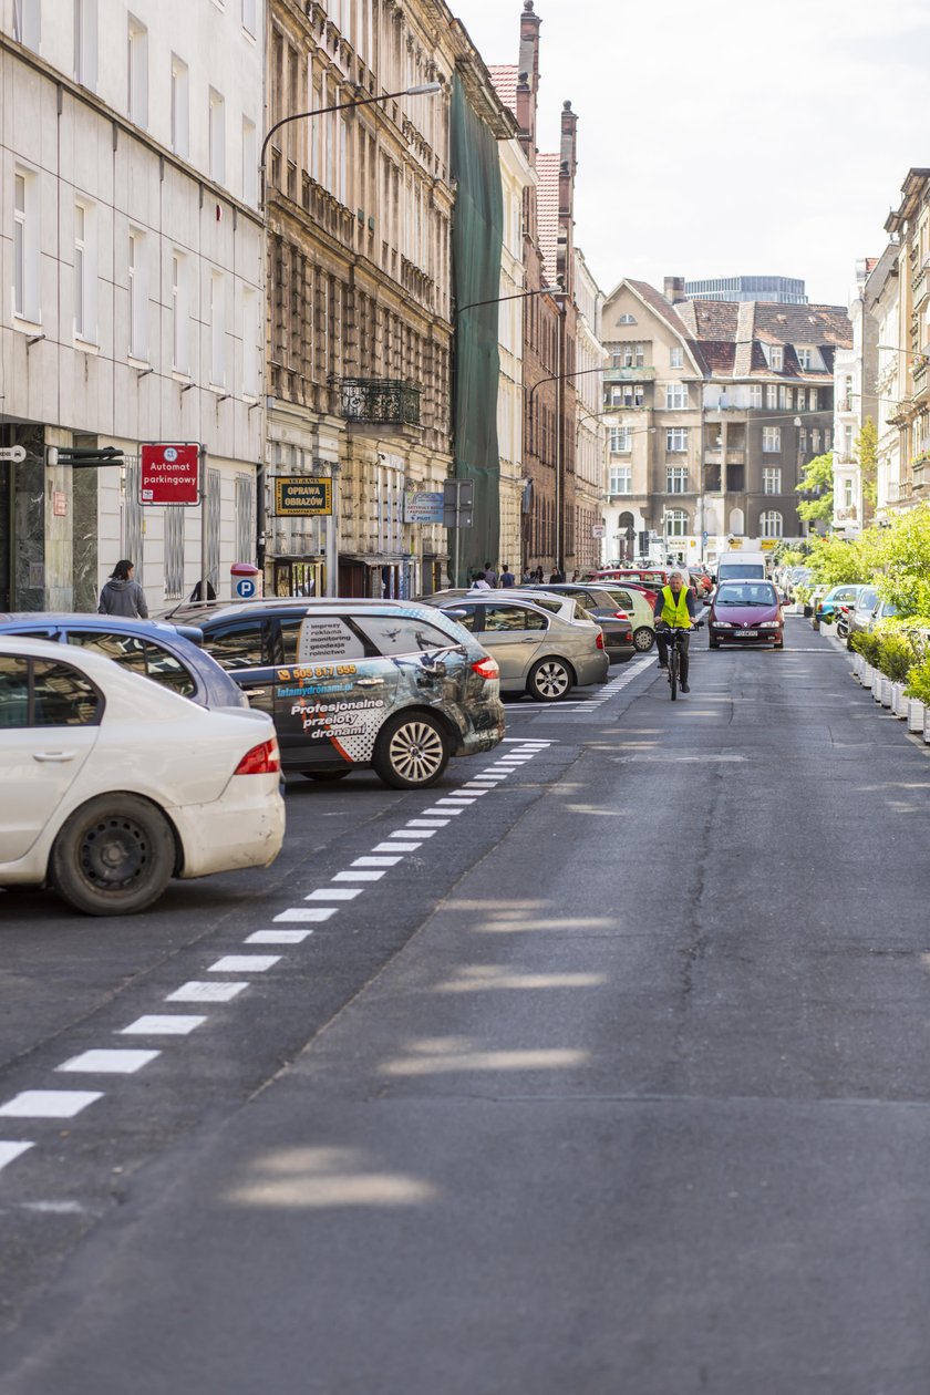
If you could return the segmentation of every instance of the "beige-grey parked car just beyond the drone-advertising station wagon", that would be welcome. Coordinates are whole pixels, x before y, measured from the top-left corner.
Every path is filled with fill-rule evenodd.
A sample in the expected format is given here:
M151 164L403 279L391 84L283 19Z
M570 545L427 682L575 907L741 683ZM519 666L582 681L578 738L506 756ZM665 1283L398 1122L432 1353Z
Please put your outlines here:
M602 684L608 672L604 635L594 621L567 621L508 591L436 601L452 611L501 667L501 691L558 702L572 688Z

